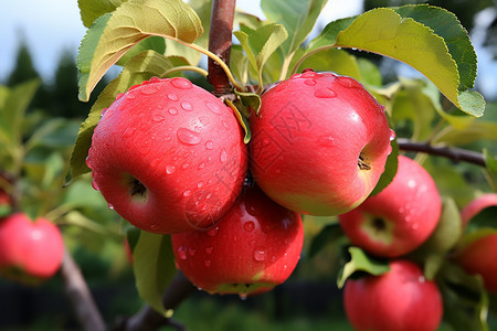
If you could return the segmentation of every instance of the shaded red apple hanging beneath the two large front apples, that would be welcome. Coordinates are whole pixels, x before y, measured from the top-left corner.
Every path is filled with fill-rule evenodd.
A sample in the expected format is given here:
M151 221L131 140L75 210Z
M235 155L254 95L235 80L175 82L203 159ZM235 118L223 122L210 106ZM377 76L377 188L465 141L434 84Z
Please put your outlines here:
M300 258L300 215L245 188L215 227L171 235L178 267L211 293L261 293L284 282Z

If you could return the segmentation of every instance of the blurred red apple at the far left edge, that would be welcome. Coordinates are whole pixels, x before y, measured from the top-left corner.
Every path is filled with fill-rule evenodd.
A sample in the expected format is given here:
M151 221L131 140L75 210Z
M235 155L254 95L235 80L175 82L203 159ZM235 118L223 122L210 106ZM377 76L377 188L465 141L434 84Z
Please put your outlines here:
M3 277L38 285L55 275L63 255L61 232L49 220L32 222L23 213L0 220L0 274Z

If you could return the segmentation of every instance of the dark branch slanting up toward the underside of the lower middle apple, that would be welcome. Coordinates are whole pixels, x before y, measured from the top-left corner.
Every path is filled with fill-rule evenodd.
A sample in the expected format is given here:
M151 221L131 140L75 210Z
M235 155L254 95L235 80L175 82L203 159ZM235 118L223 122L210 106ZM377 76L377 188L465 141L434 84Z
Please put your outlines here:
M163 307L166 309L175 309L195 290L195 287L190 280L181 271L178 271L168 289L163 292ZM154 331L159 330L163 325L170 325L177 330L184 329L182 324L172 319L165 318L150 306L146 305L138 313L118 321L115 331Z

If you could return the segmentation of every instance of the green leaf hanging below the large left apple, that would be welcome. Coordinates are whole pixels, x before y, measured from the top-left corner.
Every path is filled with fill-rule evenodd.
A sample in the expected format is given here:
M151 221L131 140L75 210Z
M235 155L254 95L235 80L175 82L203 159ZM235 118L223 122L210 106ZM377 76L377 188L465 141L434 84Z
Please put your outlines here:
M165 317L162 292L176 274L171 237L141 231L138 243L133 249L133 270L139 296Z

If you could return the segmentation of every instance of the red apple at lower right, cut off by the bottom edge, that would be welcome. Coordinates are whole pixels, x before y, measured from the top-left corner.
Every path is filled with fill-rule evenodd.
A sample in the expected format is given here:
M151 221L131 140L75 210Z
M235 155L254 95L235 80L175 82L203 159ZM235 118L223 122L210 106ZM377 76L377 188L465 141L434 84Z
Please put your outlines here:
M357 331L435 331L443 316L436 284L405 259L392 260L387 274L347 280L343 307Z

